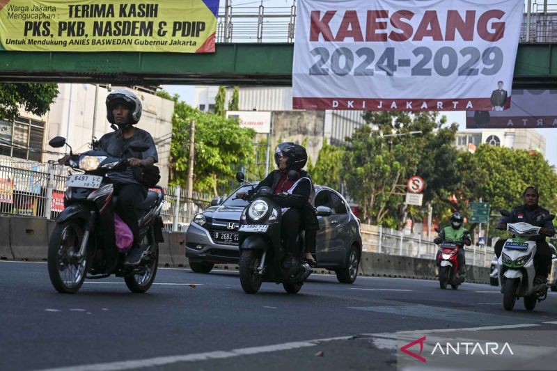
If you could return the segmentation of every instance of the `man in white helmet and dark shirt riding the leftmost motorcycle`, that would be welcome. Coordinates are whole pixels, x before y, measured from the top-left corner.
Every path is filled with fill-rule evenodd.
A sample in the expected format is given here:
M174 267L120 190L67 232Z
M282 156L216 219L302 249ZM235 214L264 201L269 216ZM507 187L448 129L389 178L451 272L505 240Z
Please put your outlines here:
M139 237L136 206L147 197L148 188L141 182L141 166L152 166L158 161L157 148L152 136L143 129L134 127L141 118L141 100L130 90L114 90L107 96L107 120L113 132L104 134L98 142L100 149L114 157L127 159L123 171L107 174L113 183L114 194L118 195L116 212L130 227L134 244L127 252L124 265L137 265L141 262L143 251ZM129 145L141 141L149 145L145 152L133 152Z

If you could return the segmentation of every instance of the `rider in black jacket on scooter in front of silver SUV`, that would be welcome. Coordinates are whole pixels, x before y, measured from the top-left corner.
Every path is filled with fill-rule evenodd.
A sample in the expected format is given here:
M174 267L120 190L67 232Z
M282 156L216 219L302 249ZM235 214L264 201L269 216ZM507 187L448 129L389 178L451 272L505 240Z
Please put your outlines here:
M315 198L313 181L310 175L302 170L308 161L306 148L293 142L280 143L276 148L274 160L278 169L269 173L248 194L238 192L236 196L246 198L246 196L256 194L261 187L270 187L274 194L284 192L288 194L287 197L276 200L283 211L281 238L287 252L283 267L288 268L297 265L297 260L294 257L297 255L296 239L300 226L304 226L306 230L304 259L308 264L315 265L316 262L311 255L311 251L315 251L315 236L319 229L319 222L313 207L313 199ZM292 170L297 172L297 180L288 178L288 172Z

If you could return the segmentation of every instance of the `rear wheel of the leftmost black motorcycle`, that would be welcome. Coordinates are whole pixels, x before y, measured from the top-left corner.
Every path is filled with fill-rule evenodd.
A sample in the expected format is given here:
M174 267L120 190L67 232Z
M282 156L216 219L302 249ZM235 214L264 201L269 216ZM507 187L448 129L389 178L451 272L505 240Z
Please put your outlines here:
M145 237L143 237L141 248L143 248L143 251L146 251L146 256L142 259L140 268L145 270L141 274L124 276L127 288L136 294L142 294L149 290L157 275L157 267L159 266L159 244L155 242L155 234L152 228L149 228Z

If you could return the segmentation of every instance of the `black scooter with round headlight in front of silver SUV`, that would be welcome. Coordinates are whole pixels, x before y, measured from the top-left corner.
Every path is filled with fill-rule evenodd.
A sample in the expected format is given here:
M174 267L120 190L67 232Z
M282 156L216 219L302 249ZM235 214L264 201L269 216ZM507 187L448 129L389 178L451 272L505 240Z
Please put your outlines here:
M297 173L291 171L288 177L296 180ZM236 180L246 182L241 172L236 174ZM253 184L246 184L250 184L253 190ZM297 238L299 255L295 257L297 264L283 267L286 251L281 242L282 211L276 203L283 197L287 194L273 194L269 187L261 187L249 197L249 205L240 217L240 284L248 294L258 292L262 282L282 283L286 292L296 294L312 272L308 263L303 261L300 233Z

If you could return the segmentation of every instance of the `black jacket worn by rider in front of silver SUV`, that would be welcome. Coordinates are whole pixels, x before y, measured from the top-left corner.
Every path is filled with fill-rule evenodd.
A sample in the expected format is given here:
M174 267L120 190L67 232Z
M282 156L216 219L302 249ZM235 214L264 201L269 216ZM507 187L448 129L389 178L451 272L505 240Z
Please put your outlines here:
M288 170L287 170L288 171ZM282 172L280 170L274 170L264 180L259 182L257 187L253 189L253 193L256 193L261 187L269 187L274 192L276 188L276 184L281 180ZM318 230L319 229L319 221L317 221L317 214L315 212L315 207L311 204L313 202L313 196L315 195L315 189L311 189L313 187L313 181L311 180L311 176L307 173L307 171L301 170L300 171L300 178L307 177L310 182L301 182L298 186L292 191L293 195L301 196L301 197L286 197L282 200L276 200L276 203L281 207L294 207L296 209L300 209L301 211L301 220L304 224L304 229L306 230Z

